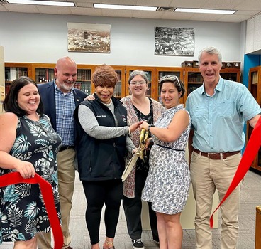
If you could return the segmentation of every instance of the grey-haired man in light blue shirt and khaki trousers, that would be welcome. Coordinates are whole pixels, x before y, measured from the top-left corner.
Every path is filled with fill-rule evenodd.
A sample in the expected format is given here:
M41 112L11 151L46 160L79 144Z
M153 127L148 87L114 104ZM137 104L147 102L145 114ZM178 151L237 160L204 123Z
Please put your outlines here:
M204 83L191 92L186 109L191 115L189 156L191 182L196 200L196 248L211 249L213 194L226 194L241 159L245 143L243 127L255 127L261 109L245 85L220 76L221 53L213 47L199 53ZM240 184L221 206L221 249L236 248Z

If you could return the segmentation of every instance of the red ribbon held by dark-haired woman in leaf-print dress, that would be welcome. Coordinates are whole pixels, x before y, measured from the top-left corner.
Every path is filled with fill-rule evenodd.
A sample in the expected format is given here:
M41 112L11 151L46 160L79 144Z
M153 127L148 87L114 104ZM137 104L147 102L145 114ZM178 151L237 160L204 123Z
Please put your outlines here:
M48 213L48 218L50 221L50 226L52 228L53 237L55 240L55 248L61 249L63 245L63 235L62 228L60 226L60 221L57 217L57 211L55 208L55 201L52 193L52 186L48 181L45 181L41 176L35 173L35 177L24 179L20 173L13 172L5 174L0 177L0 187L11 185L11 184L39 184L40 191L43 194L43 199L45 201L45 207Z

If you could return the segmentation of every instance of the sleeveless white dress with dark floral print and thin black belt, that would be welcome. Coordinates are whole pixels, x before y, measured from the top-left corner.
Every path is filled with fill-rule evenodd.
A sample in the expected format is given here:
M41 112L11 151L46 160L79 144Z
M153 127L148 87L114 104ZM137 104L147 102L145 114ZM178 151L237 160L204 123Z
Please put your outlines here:
M183 105L165 110L155 122L156 127L167 127L173 116ZM182 212L187 202L190 186L190 172L185 149L190 131L190 117L187 129L174 142L162 142L152 135L154 145L150 150L150 169L143 189L142 199L152 203L152 209L159 213Z

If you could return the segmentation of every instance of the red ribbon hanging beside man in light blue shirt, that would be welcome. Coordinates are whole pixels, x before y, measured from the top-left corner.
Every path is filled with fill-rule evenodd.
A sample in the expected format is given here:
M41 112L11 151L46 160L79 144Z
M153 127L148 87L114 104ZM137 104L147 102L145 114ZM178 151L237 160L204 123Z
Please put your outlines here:
M255 124L255 128L252 131L250 139L248 140L248 144L245 147L245 152L240 160L238 165L238 169L235 172L235 176L231 181L231 185L229 186L228 190L226 191L226 195L223 197L221 203L219 203L218 207L215 211L213 211L211 218L210 218L210 226L213 228L213 214L218 210L221 204L226 201L226 198L233 192L233 190L238 186L240 181L244 178L245 174L248 172L252 161L254 161L255 156L261 146L261 117Z

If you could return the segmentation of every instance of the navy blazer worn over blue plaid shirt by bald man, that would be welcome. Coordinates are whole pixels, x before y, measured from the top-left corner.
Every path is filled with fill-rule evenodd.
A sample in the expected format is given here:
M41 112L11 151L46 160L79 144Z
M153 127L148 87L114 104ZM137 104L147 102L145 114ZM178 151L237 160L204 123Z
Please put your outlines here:
M48 83L38 84L38 90L40 92L41 100L43 101L44 112L48 117L53 129L56 131L56 108L55 108L55 82L50 81ZM77 107L87 94L77 88L73 89L75 107Z

